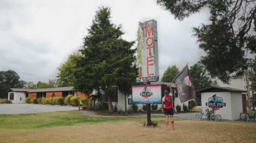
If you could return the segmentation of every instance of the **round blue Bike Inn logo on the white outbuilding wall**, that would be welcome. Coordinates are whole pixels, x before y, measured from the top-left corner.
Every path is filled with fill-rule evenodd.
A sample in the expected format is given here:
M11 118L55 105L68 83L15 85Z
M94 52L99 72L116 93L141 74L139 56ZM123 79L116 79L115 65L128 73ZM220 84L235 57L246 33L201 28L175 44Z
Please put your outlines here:
M223 106L226 106L226 103L223 103L223 99L221 97L217 97L216 94L214 94L208 99L206 106L209 106L213 110L219 110L220 108L223 108Z

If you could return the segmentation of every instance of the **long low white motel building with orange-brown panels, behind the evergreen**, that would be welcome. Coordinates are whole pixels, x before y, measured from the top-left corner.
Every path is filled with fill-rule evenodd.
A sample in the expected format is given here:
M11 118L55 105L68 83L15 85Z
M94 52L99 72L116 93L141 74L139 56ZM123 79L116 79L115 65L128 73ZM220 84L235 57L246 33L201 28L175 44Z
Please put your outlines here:
M166 85L168 86L168 83L166 82L151 82L152 85ZM173 91L174 96L174 107L177 105L189 105L189 102L186 101L185 103L181 104L180 99L178 98L177 89L175 87L175 84L171 84L171 88ZM98 97L97 102L107 102L108 98L104 91L100 91L101 96ZM88 97L86 94L81 93L80 91L74 90L74 87L56 87L56 88L43 88L43 89L21 89L21 88L10 88L8 91L8 100L11 100L12 103L26 103L25 99L27 97L31 98L50 98L50 97L66 97L67 95L73 94L74 96L85 98ZM90 95L92 95L91 93ZM94 93L95 94L95 93ZM125 96L122 94L118 87L115 88L115 92L111 95L112 105L117 110L123 110L127 111L131 108L132 96ZM161 105L158 105L158 108ZM142 110L143 105L138 104L139 110ZM183 109L182 109L183 110Z

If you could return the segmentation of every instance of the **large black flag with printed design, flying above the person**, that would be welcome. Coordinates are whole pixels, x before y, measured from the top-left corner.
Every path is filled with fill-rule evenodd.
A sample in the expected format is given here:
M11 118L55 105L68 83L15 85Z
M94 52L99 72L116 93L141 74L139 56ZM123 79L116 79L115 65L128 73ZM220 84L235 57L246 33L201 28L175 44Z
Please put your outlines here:
M175 77L175 85L182 103L195 98L195 89L189 77L188 64Z

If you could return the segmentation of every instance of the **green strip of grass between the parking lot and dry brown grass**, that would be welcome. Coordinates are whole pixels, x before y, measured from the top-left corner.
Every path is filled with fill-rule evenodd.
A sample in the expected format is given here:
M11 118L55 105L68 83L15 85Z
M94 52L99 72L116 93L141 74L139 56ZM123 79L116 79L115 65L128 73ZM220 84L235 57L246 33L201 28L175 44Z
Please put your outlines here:
M116 121L146 121L146 117L106 118L85 116L82 112L44 112L30 114L0 114L1 129L39 129L56 126L71 126L81 123L97 124ZM164 122L163 116L152 116L155 122ZM182 120L182 119L176 119Z

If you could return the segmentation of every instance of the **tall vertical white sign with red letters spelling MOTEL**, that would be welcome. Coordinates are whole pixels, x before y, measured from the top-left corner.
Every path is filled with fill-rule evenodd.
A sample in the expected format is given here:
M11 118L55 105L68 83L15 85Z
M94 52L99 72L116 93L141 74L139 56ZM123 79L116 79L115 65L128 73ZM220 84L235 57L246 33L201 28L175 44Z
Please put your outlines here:
M159 81L157 25L155 20L139 22L137 44L137 82Z

